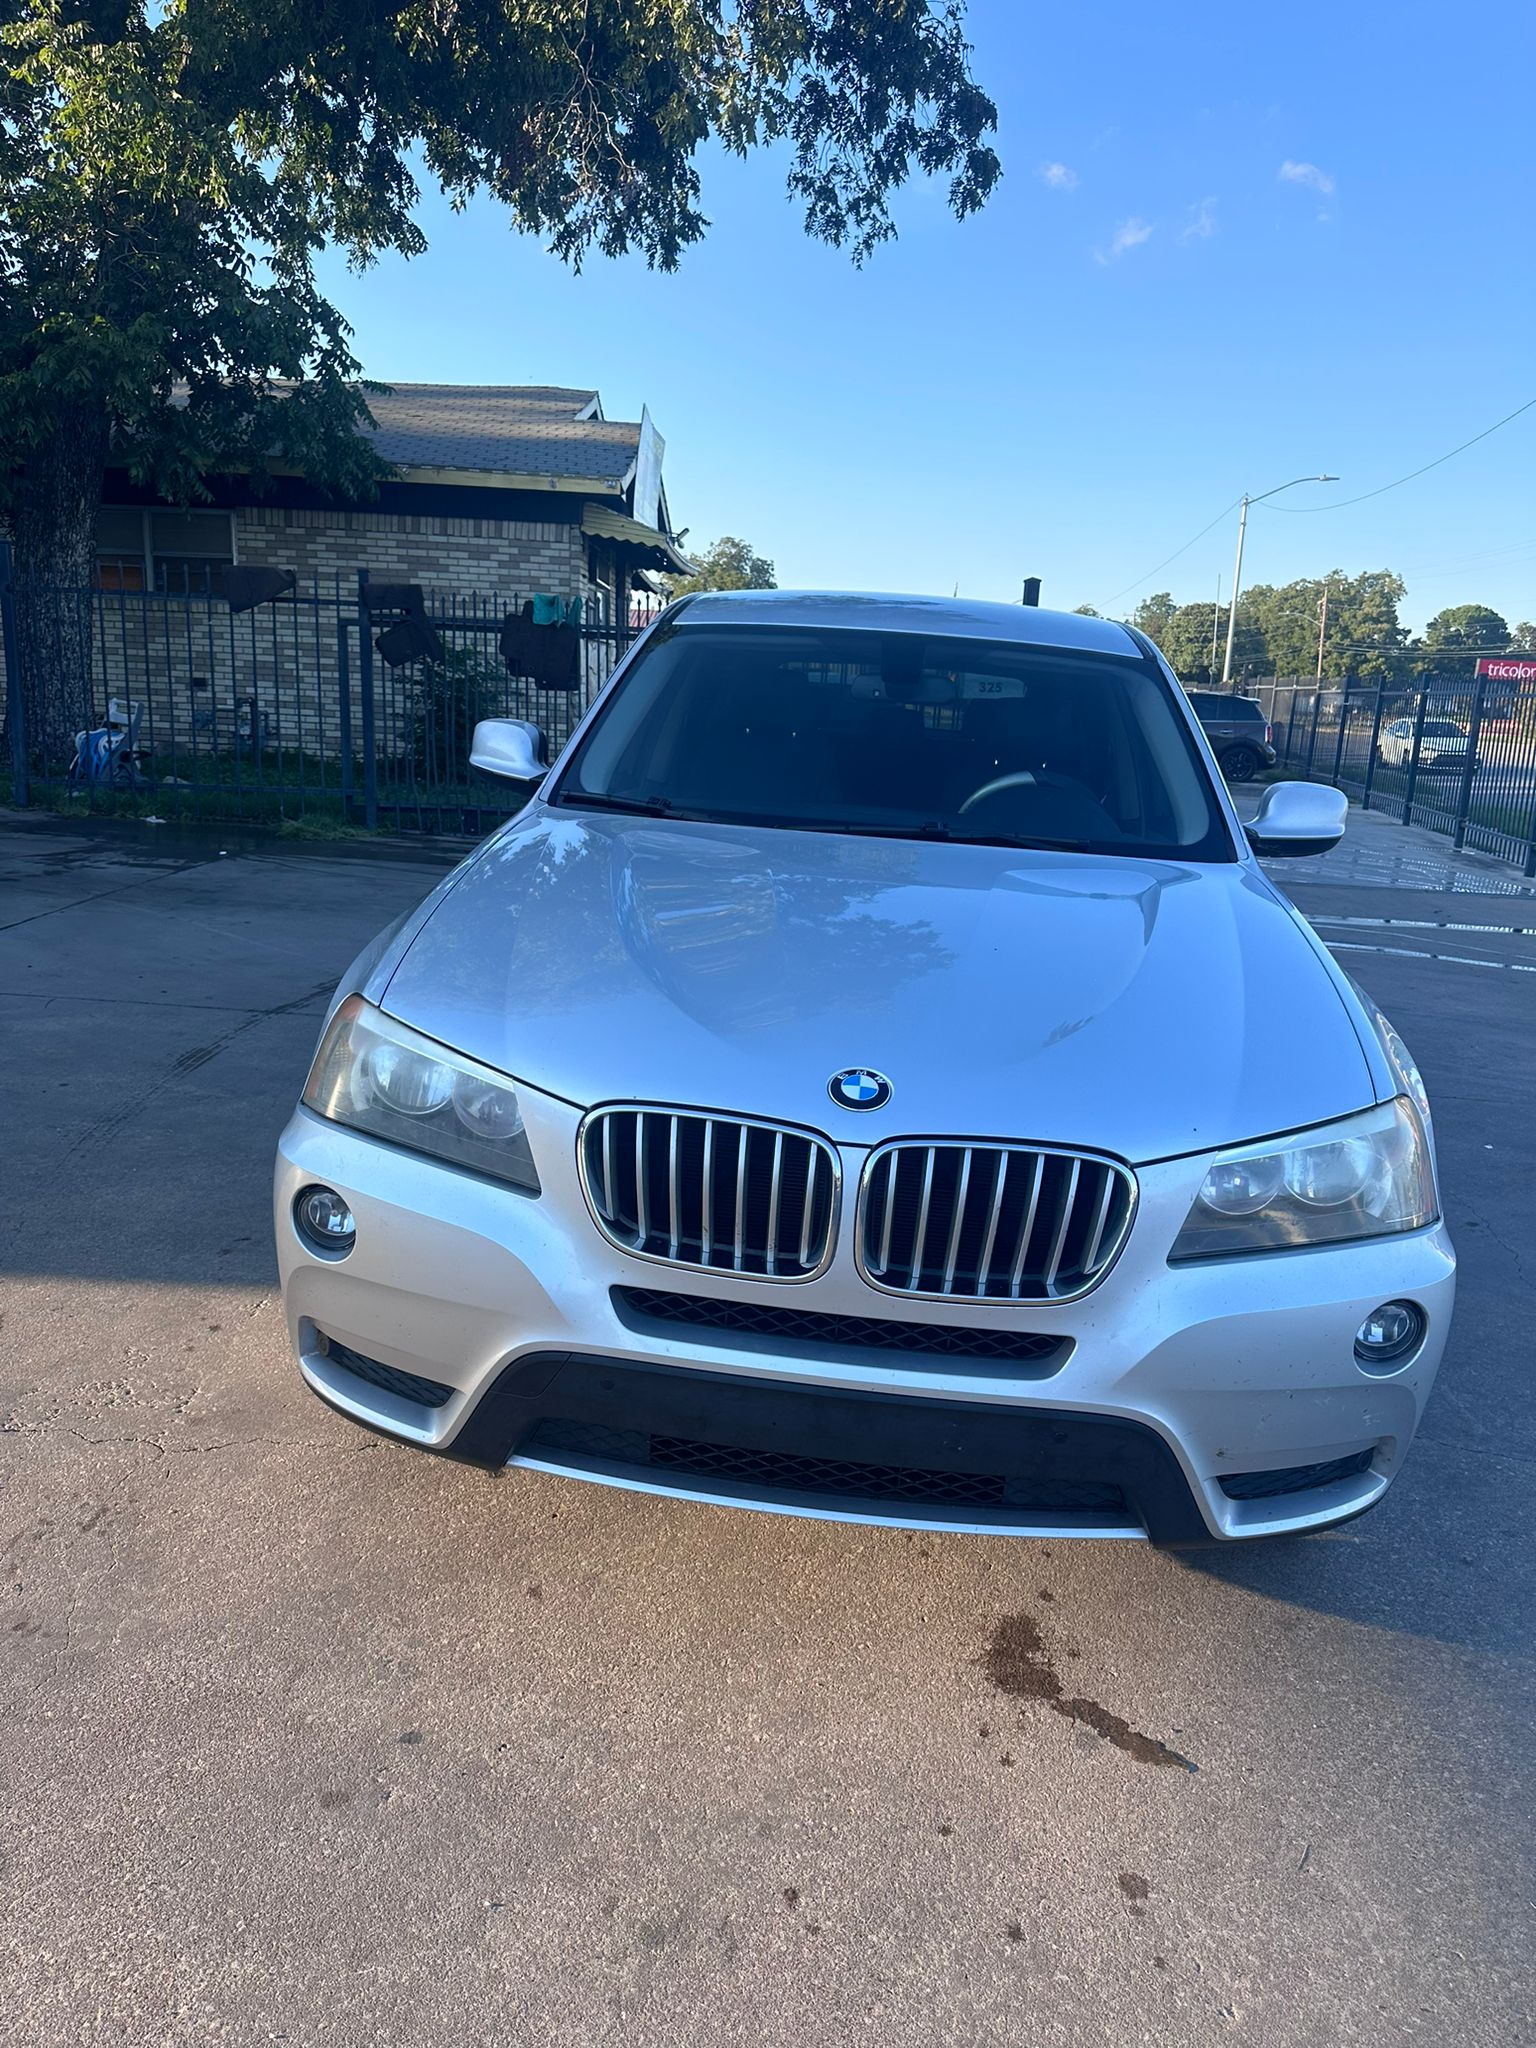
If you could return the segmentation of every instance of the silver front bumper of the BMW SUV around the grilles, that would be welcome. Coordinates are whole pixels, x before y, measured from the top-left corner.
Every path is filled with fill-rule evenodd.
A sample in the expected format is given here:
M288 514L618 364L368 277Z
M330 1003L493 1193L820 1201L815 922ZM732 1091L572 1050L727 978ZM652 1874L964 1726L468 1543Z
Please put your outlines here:
M1374 1505L1401 1466L1446 1341L1444 1227L1368 1245L1167 1266L1202 1159L1139 1167L1124 1253L1075 1303L893 1300L852 1266L862 1151L844 1153L838 1249L805 1284L668 1270L614 1249L575 1176L580 1112L520 1087L532 1198L297 1110L274 1217L299 1366L332 1407L481 1464L782 1513L948 1530L1151 1536L1321 1528ZM317 1257L301 1188L338 1188L356 1249ZM793 1309L811 1335L692 1327L629 1290ZM1389 1298L1427 1335L1389 1378L1354 1333ZM872 1350L821 1319L1032 1331L1032 1362ZM1243 1475L1290 1475L1253 1491Z

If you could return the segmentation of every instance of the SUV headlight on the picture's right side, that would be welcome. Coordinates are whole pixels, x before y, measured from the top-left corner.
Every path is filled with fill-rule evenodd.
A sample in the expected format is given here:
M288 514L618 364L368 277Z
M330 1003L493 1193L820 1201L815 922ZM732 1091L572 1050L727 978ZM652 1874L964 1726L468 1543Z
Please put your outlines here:
M1436 1214L1423 1122L1413 1102L1397 1096L1325 1130L1223 1153L1169 1260L1341 1245L1419 1231Z

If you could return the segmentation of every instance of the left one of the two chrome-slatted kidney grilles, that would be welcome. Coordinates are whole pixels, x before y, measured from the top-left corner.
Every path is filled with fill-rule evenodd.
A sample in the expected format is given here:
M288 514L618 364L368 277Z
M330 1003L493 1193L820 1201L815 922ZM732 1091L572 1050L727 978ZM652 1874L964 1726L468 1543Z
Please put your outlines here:
M582 1184L621 1251L758 1280L809 1280L831 1255L838 1165L807 1130L684 1110L596 1110Z

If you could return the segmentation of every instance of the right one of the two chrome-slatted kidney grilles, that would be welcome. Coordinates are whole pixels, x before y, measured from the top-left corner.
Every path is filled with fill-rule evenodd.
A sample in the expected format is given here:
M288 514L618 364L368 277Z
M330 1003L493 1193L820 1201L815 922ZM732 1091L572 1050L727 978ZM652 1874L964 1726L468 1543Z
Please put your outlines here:
M893 1294L1071 1300L1114 1264L1128 1169L1026 1145L887 1145L864 1167L858 1266Z

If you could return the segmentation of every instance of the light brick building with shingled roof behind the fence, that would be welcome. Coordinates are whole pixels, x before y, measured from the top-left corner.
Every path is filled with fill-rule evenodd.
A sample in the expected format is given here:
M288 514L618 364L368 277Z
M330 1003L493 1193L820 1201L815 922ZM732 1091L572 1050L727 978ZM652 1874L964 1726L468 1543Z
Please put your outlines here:
M367 500L281 473L260 492L248 477L209 477L211 502L178 508L109 471L82 727L131 707L160 780L188 750L225 754L242 733L258 750L334 758L340 645L356 664L365 569L373 584L420 584L451 655L502 684L504 612L541 594L582 598L582 688L532 707L563 737L635 608L655 602L657 578L690 569L649 414L608 420L596 391L551 385L395 385L369 408L391 477ZM295 584L233 616L231 565L293 571ZM420 723L420 682L418 666L377 664L381 750Z

